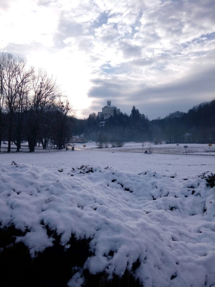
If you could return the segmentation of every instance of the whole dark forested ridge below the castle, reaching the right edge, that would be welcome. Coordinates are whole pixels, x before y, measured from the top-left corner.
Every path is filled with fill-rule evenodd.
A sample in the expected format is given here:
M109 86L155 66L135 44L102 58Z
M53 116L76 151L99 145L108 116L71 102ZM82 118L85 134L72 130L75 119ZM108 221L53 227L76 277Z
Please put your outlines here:
M194 106L187 113L176 111L152 121L135 106L130 115L115 113L103 122L92 113L87 119L73 119L73 134L83 134L85 139L92 141L102 137L103 142L215 142L215 99Z

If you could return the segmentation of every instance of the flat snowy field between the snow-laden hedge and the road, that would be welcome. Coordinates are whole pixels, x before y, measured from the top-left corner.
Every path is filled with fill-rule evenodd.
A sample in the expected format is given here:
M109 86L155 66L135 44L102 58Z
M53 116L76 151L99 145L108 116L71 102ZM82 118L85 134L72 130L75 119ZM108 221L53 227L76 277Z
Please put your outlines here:
M144 154L117 152L112 149L55 151L36 153L2 153L0 163L26 163L46 167L50 170L63 169L67 173L72 167L81 165L106 166L125 172L138 173L142 170L176 173L180 176L197 175L205 171L215 172L213 156L191 156L184 154Z

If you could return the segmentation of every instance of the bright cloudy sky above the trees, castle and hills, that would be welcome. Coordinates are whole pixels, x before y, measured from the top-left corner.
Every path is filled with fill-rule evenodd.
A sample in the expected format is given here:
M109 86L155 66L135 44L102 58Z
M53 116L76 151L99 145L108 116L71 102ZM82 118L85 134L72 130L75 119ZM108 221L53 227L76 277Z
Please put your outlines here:
M215 0L0 0L0 51L57 78L77 118L215 97Z

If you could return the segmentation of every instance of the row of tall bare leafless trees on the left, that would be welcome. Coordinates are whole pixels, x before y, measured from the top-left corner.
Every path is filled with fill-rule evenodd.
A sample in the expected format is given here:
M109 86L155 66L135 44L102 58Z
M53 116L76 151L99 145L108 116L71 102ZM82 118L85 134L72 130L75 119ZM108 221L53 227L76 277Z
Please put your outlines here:
M0 54L0 150L1 142L11 142L20 151L28 141L34 152L37 142L46 148L48 141L62 149L71 137L71 106L53 77L29 67L24 59Z

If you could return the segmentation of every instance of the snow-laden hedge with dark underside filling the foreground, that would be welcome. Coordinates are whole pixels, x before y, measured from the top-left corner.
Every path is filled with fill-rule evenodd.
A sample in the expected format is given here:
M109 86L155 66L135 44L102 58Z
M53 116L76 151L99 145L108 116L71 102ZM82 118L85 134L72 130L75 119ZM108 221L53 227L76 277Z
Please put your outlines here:
M200 176L1 165L2 282L212 286L214 219Z

